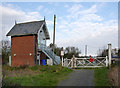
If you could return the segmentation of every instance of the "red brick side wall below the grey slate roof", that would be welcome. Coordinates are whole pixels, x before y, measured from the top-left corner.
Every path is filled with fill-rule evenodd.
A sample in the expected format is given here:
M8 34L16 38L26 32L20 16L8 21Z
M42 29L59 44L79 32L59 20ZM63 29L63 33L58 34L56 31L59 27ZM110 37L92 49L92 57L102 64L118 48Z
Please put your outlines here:
M11 66L35 65L35 38L33 35L11 37Z

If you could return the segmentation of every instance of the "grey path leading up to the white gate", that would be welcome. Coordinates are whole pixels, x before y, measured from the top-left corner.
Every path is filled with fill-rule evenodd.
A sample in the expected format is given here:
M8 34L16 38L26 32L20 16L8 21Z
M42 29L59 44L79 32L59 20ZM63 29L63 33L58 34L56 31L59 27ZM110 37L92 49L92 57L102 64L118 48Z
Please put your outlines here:
M62 80L58 86L94 86L94 70L74 70L68 79Z

